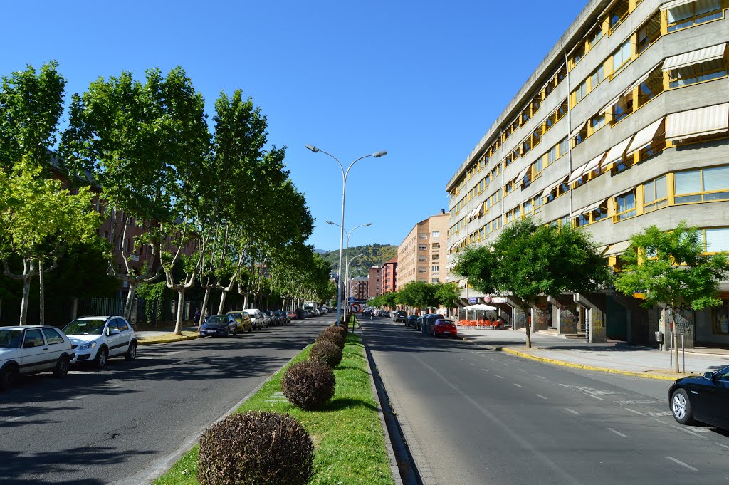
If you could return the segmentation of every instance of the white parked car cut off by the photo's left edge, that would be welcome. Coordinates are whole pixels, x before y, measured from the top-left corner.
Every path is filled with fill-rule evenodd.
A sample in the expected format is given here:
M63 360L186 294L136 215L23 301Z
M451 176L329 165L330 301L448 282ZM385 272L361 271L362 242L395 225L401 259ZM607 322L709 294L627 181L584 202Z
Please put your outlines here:
M0 327L0 389L20 375L44 370L66 376L74 358L72 347L69 338L53 327Z

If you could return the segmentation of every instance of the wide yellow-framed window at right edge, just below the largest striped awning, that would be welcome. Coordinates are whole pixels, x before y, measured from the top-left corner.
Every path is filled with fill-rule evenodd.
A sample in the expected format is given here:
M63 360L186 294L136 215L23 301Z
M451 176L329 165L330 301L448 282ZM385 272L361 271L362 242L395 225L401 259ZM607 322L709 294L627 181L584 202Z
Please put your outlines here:
M729 199L729 166L677 172L674 192L675 203L725 201Z

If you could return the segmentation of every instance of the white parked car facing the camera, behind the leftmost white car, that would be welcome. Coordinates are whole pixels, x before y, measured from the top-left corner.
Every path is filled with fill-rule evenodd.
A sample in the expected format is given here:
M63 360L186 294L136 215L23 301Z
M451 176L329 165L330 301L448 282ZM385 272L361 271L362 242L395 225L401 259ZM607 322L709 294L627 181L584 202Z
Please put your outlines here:
M137 338L124 317L81 317L63 327L74 345L71 364L93 362L103 369L109 357L136 357Z

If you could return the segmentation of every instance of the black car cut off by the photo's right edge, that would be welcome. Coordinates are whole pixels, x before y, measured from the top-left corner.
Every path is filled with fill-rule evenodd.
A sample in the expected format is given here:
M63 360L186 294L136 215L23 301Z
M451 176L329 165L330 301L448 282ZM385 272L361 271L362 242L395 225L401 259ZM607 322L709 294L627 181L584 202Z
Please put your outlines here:
M729 430L729 366L703 376L677 379L668 389L668 406L681 424L699 421Z

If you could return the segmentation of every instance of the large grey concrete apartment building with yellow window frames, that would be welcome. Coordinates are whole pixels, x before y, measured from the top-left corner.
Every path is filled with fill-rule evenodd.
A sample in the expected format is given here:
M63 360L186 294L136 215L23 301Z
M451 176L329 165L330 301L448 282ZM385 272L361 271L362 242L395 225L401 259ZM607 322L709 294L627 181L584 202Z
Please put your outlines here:
M687 220L706 252L728 250L728 8L590 1L448 181L449 267L463 247L524 217L585 228L616 269L629 238L649 225ZM531 317L534 330L634 343L669 331L660 309L609 290L545 297L527 316L509 295L459 284L464 302L488 298L515 327ZM689 346L729 343L727 285L721 296L722 307L684 315Z

